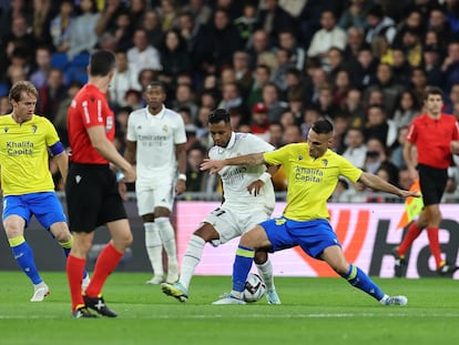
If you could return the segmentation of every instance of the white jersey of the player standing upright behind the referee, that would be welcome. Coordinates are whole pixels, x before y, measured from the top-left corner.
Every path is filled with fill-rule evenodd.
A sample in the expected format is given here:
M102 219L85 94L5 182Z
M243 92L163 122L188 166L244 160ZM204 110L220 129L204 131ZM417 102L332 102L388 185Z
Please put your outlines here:
M128 120L129 141L137 143L137 181L170 176L177 173L175 145L186 142L182 116L163 105L157 115L147 106L133 111Z

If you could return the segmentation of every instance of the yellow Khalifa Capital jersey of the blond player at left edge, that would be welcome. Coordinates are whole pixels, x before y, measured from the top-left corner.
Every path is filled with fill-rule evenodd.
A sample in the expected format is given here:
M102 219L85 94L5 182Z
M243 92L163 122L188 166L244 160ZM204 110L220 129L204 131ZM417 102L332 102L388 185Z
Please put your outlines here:
M59 141L52 123L39 115L17 123L0 116L0 166L3 195L54 191L48 148Z

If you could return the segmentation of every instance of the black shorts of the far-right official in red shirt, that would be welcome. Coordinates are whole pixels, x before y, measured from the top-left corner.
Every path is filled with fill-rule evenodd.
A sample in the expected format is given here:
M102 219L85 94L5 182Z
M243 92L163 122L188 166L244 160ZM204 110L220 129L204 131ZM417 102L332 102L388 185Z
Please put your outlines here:
M424 205L439 204L448 181L448 170L419 164L418 172Z

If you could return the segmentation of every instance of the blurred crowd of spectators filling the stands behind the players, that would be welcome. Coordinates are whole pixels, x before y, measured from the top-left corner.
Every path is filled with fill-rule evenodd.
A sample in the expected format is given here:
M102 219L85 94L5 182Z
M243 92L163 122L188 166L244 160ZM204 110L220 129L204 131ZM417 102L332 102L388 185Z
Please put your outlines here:
M456 0L0 1L0 113L10 111L11 85L30 80L37 114L68 145L67 110L98 48L116 54L108 97L121 152L143 88L167 87L166 105L186 125L188 192L217 189L198 169L216 108L231 112L235 131L277 148L305 140L327 116L334 151L404 189L412 181L401 148L426 85L440 87L445 112L459 119ZM446 199L458 176L451 168ZM274 176L277 191L284 180ZM343 181L334 201L369 201L359 189Z

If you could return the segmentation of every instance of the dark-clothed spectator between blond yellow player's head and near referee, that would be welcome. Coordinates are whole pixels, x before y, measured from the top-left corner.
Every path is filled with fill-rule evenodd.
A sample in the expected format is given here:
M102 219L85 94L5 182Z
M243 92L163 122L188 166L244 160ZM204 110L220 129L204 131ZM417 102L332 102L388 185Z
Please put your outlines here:
M51 69L47 83L39 89L39 92L40 99L37 103L37 111L40 115L53 122L59 104L67 97L63 72L59 69Z

